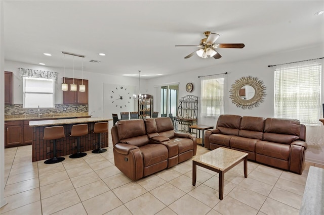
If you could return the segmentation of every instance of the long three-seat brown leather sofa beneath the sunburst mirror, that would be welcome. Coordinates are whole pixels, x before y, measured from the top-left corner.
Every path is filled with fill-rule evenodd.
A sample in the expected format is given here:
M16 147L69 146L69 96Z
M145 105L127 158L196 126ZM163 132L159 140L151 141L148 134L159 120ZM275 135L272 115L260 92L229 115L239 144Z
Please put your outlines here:
M299 120L221 115L216 128L205 132L205 147L244 151L250 160L302 174L305 137Z

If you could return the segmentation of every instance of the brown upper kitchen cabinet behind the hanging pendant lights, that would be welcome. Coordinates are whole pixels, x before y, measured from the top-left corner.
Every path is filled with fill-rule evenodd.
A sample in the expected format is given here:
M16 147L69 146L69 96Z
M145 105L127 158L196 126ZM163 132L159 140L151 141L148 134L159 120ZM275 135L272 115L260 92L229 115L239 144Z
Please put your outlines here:
M64 78L62 78L62 83ZM74 84L77 85L77 90L75 92L70 90L70 84L73 84L73 78L65 78L65 83L68 85L67 91L63 92L63 104L88 104L88 80L83 79L83 85L86 86L85 92L79 91L79 85L82 84L82 79L74 78Z

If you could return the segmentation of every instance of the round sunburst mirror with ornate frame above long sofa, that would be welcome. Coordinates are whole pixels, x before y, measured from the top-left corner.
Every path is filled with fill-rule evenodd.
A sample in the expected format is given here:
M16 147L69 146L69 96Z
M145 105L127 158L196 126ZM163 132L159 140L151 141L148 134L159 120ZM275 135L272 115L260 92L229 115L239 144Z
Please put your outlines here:
M237 107L252 109L263 101L265 88L256 77L241 77L232 84L229 97Z

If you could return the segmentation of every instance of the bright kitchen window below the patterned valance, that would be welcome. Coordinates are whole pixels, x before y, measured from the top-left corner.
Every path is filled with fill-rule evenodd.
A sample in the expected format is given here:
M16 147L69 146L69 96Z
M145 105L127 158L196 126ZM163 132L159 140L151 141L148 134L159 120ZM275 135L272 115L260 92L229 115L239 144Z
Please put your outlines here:
M55 79L23 77L24 108L54 108Z

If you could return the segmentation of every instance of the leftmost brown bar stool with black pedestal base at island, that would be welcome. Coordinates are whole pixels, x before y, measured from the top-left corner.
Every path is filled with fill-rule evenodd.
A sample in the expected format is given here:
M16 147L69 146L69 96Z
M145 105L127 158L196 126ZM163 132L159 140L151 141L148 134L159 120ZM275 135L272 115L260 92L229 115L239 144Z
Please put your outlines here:
M64 157L57 157L57 149L56 149L56 140L65 137L64 127L63 126L52 126L44 128L44 140L53 140L53 157L45 160L45 164L56 164L62 162Z

